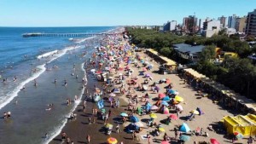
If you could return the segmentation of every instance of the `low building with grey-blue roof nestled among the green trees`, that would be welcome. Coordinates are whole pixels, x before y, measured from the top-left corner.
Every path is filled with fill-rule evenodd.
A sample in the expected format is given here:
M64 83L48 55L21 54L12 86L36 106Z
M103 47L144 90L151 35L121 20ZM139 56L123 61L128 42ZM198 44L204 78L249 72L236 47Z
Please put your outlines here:
M186 43L173 44L172 46L180 57L192 61L199 60L200 53L205 48L203 45L192 46Z

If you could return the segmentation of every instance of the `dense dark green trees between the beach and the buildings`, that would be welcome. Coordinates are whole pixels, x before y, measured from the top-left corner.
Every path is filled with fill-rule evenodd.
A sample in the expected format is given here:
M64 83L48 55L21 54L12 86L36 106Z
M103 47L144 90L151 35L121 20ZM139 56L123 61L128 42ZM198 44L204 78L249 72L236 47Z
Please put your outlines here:
M206 47L201 52L200 60L192 67L196 71L207 75L207 77L224 84L230 89L234 89L241 95L247 95L248 98L256 100L256 67L253 66L251 60L247 59L248 55L256 52L256 46L250 48L247 42L241 42L237 36L227 37L224 34L225 32L219 32L216 36L206 38L177 36L172 33L145 29L128 28L127 31L132 36L131 43L143 48L156 49L161 55L177 60L180 63L188 61L177 57L172 44L205 45ZM215 65L210 60L215 58L216 47L221 48L223 51L235 52L239 55L239 58L225 57L223 64Z

